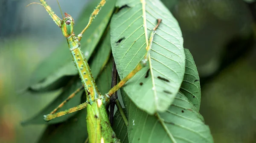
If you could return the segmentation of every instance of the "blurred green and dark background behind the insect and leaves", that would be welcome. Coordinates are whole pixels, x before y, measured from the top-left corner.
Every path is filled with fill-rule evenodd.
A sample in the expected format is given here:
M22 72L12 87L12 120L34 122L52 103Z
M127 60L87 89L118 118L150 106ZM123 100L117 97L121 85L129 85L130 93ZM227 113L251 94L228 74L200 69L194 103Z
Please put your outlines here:
M55 0L48 0L61 15ZM74 20L89 0L60 0ZM0 0L0 143L34 143L44 125L20 123L59 91L33 94L30 75L65 39L32 0ZM37 2L37 1L36 1ZM162 0L180 24L201 80L201 109L215 143L256 143L256 2ZM75 31L76 33L78 31Z

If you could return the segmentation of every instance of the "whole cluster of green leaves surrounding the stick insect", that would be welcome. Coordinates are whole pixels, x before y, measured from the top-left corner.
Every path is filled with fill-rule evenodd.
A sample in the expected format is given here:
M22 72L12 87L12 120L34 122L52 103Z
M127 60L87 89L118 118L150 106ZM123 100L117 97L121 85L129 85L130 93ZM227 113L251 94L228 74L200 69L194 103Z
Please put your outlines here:
M105 94L111 88L111 48L122 79L144 57L156 19L163 20L154 35L147 66L121 90L128 127L120 113L116 112L113 125L116 136L123 143L213 143L209 127L199 113L201 89L197 68L189 50L183 48L183 37L177 21L160 0L145 0L145 7L141 1L117 0L116 3L115 0L107 0L81 41L86 58L91 56L89 65L96 84L100 92ZM97 3L97 0L93 0L85 8L76 21L76 29L81 30L85 26ZM52 103L25 122L50 124L39 140L41 143L84 142L87 138L85 109L48 123L43 121L44 114L49 114L81 86L69 50L64 50L64 47L67 47L67 43L50 55L51 60L46 59L38 66L36 74L32 76L31 83L36 83L32 89L38 91L52 90L49 88L52 86L62 87L63 83L58 81L65 75L73 76ZM83 103L83 93L79 92L60 111Z

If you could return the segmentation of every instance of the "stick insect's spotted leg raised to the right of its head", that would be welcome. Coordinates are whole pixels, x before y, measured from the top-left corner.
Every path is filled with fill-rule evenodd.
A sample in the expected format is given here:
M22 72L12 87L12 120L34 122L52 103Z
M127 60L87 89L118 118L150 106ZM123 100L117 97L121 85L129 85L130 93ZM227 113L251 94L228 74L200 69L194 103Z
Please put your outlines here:
M89 28L90 24L93 22L93 19L97 16L97 14L99 13L100 9L102 8L102 6L104 6L105 3L106 3L106 0L101 0L99 2L98 6L96 6L96 8L94 9L93 13L90 15L89 22L88 22L87 26L77 36L79 41L81 40L84 32Z

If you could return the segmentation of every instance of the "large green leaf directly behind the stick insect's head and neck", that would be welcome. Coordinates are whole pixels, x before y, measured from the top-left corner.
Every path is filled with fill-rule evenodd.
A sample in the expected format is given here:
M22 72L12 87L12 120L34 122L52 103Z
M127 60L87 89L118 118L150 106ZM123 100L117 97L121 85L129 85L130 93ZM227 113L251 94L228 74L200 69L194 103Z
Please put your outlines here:
M93 20L93 24L83 35L81 40L81 49L84 52L84 56L87 58L87 60L89 60L100 38L102 37L103 32L105 31L105 28L113 13L115 1L116 0L107 0L107 3L102 7L101 11L97 15L97 18ZM77 34L86 26L90 14L93 12L93 9L98 3L99 0L92 0L91 3L84 8L79 20L77 20L79 22L76 22L76 26L74 27L74 31ZM70 56L70 51L68 50L67 42L65 41L35 70L31 78L31 85L33 85L32 89L39 90L50 87L61 77L75 74L77 74L77 71L74 68L72 57ZM39 81L41 82L38 83Z

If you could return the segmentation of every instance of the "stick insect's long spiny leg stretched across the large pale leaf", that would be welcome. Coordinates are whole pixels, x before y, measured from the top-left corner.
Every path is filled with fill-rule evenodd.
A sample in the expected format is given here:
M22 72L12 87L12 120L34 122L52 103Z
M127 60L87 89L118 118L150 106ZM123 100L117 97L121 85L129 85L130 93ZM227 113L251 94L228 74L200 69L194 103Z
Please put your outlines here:
M157 25L151 31L151 36L149 38L149 44L146 47L147 51L146 51L144 59L141 60L140 63L138 63L137 66L125 78L123 78L119 83L117 83L116 86L114 86L112 89L110 89L110 91L107 94L105 94L106 101L111 97L111 95L113 93L115 93L118 89L120 89L129 79L131 79L131 77L133 77L137 72L139 72L146 65L146 62L148 61L151 45L153 42L154 34L156 32L157 27L161 23L161 21L162 21L161 19L157 19Z

